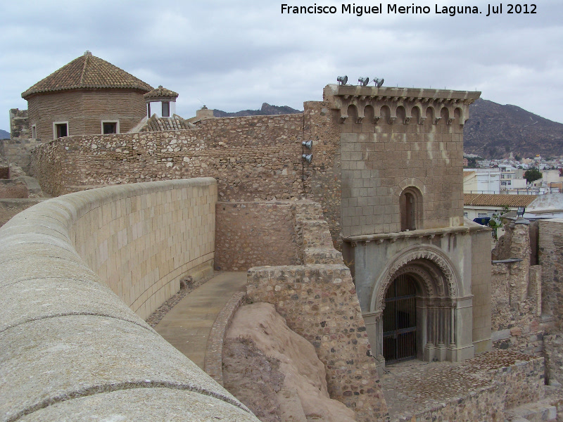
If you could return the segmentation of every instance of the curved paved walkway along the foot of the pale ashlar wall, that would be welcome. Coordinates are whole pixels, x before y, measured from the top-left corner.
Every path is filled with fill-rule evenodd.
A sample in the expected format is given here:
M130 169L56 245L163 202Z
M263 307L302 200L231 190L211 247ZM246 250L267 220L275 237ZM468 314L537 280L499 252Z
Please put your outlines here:
M215 272L213 279L182 299L154 329L203 369L207 339L215 318L238 291L246 291L246 271Z

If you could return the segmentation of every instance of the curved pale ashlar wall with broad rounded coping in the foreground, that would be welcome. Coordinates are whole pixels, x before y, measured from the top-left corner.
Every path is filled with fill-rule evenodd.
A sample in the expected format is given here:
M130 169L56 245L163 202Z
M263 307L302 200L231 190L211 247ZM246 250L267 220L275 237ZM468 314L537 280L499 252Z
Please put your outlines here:
M258 421L144 321L213 262L216 200L211 178L112 186L0 229L0 421Z

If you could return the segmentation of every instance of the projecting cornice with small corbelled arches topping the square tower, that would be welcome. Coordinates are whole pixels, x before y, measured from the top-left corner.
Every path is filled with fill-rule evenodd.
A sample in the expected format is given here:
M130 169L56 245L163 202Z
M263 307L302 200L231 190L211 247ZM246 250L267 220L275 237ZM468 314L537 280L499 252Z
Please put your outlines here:
M481 92L329 84L324 87L323 96L330 108L340 111L341 123L347 122L348 109L352 106L355 123L369 117L371 123L377 124L384 117L382 123L409 124L415 117L418 124L424 124L430 115L432 124L442 121L463 125L469 118L469 104L474 103Z

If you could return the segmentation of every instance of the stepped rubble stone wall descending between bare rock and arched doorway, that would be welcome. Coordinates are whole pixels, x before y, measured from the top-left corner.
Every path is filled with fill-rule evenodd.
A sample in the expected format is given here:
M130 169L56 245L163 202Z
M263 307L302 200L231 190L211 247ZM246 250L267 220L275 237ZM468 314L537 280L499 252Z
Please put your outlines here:
M386 421L387 406L350 270L331 246L320 206L298 202L295 213L305 262L314 255L318 263L249 269L248 299L272 303L287 326L315 347L327 371L331 399L353 409L358 421ZM320 227L322 234L309 233Z

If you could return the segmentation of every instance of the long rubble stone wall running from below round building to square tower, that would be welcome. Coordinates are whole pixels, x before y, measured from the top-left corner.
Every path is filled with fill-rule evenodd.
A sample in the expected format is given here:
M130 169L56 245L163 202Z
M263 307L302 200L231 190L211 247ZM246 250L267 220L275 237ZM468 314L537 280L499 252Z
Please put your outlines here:
M215 177L219 200L307 197L322 204L333 241L340 234L340 147L324 103L305 113L208 119L198 129L70 136L42 143L32 173L57 196L86 187ZM310 165L301 141L313 140ZM306 179L303 181L303 176Z

